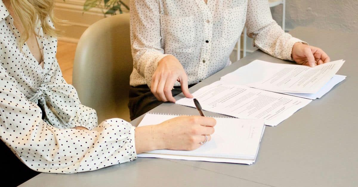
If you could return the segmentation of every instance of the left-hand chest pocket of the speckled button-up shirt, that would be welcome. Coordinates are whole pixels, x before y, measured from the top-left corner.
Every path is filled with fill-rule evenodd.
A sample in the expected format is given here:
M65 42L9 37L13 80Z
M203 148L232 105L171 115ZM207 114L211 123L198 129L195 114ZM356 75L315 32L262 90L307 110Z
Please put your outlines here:
M162 45L166 54L191 53L195 44L194 17L160 15Z

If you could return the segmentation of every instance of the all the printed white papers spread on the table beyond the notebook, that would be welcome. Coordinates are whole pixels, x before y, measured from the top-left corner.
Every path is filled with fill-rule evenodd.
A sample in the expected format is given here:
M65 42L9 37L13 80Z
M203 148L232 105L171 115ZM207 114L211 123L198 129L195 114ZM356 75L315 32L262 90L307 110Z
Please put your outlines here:
M193 93L203 110L244 119L264 119L276 126L322 97L345 79L335 75L344 60L310 68L304 65L252 61ZM193 99L176 104L195 107Z

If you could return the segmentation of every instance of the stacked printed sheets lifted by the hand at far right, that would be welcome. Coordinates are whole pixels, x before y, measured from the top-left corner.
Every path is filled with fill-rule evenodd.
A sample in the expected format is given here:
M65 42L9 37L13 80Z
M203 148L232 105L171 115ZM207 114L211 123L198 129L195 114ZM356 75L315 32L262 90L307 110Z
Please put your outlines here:
M224 75L221 80L272 92L316 99L345 79L345 76L342 75L334 76L343 63L344 60L337 60L310 68L304 65L255 60Z

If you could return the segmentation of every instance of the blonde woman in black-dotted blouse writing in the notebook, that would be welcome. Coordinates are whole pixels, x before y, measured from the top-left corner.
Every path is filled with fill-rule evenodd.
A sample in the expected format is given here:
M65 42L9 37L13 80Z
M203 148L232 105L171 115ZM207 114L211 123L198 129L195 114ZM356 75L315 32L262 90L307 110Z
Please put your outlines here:
M53 7L53 0L0 1L0 138L8 181L92 171L154 149L196 149L205 135L210 140L216 122L200 116L138 128L113 118L97 127L96 111L81 105L62 77Z

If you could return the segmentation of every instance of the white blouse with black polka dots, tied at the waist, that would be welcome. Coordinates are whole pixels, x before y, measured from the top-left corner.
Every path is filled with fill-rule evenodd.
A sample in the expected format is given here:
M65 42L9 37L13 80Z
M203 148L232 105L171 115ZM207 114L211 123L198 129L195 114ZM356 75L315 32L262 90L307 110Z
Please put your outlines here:
M114 118L97 126L96 111L81 105L62 77L57 40L36 28L43 68L0 1L0 138L39 172L91 171L136 159L134 127ZM77 130L73 127L86 127Z

